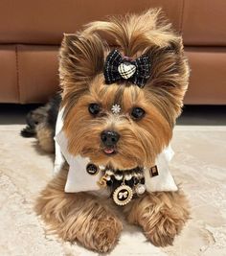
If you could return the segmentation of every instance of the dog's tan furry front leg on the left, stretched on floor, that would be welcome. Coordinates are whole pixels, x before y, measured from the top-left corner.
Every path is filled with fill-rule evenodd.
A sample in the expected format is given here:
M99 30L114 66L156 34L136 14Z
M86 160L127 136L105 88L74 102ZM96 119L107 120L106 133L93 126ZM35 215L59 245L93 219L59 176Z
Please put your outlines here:
M122 222L106 205L86 193L64 193L64 168L41 193L35 211L49 224L50 231L65 241L106 252L117 243Z

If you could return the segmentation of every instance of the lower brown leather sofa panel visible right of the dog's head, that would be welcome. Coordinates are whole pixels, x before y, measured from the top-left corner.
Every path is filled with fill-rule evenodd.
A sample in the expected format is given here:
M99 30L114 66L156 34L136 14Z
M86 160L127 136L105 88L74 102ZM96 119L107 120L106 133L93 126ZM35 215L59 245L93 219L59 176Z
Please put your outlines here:
M192 105L226 104L226 48L188 47L191 67L185 103Z

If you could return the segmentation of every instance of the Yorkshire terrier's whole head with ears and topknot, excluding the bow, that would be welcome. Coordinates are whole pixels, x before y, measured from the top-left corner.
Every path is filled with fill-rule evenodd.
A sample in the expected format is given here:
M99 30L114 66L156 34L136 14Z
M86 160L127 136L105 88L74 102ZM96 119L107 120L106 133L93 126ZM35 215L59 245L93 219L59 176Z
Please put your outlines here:
M150 36L150 27L157 26L155 12L142 16L143 22L151 23L152 18L148 31L139 30L141 17L129 17L130 21L93 23L79 35L65 35L60 52L68 150L120 170L151 166L168 146L189 73L179 37L161 31L163 25L157 34L155 28L157 40ZM134 22L134 37L128 38L122 30L131 31ZM144 88L127 81L105 83L102 70L110 47L102 43L104 34L123 55L149 56L151 74Z

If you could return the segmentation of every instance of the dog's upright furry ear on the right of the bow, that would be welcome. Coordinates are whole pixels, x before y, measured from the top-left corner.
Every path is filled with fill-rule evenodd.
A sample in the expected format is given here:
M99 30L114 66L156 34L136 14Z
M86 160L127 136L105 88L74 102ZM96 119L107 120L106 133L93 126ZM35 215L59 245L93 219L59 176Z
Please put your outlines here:
M181 37L169 41L169 46L150 47L150 78L147 90L156 105L165 109L166 114L177 117L181 112L185 92L188 88L190 68L184 55Z

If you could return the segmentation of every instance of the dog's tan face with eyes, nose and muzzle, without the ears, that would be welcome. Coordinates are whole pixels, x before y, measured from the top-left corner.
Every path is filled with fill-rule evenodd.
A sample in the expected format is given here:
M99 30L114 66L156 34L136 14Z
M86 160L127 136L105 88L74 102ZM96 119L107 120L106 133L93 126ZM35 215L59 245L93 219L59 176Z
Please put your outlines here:
M112 112L113 105L120 113ZM66 131L72 153L119 169L150 164L171 137L150 93L138 86L105 85L102 75L70 109Z

